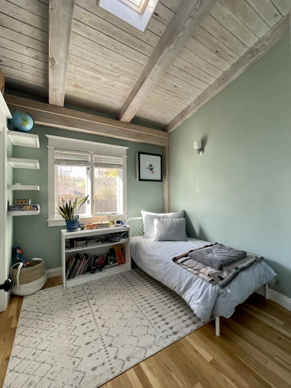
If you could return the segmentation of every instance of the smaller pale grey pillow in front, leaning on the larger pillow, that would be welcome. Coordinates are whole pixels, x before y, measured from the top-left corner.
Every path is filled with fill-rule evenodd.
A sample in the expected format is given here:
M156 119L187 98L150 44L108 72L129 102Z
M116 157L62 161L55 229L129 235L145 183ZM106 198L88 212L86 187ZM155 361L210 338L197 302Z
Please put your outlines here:
M183 241L185 239L185 218L154 219L154 241Z

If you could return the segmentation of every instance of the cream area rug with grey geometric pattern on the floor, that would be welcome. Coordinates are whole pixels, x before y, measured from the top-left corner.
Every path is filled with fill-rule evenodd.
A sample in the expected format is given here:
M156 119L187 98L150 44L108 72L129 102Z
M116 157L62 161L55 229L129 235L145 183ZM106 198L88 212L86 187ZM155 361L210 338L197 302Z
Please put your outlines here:
M24 297L5 388L97 388L202 322L139 268Z

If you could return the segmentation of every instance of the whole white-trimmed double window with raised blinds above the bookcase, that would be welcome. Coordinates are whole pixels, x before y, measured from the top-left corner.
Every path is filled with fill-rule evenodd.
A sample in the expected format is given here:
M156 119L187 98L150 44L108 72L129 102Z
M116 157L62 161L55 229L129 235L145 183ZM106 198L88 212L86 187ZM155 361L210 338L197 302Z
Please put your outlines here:
M49 138L49 226L64 221L57 201L88 200L80 208L81 222L106 214L126 216L126 149L47 135Z

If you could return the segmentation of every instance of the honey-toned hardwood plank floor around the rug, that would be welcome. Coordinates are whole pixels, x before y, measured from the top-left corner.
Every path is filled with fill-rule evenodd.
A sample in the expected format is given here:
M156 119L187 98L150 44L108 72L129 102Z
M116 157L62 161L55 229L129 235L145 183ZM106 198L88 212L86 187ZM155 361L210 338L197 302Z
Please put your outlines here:
M61 284L47 280L44 288ZM0 386L9 362L23 298L0 313ZM291 388L291 312L258 294L135 365L102 388ZM41 387L40 387L41 388Z

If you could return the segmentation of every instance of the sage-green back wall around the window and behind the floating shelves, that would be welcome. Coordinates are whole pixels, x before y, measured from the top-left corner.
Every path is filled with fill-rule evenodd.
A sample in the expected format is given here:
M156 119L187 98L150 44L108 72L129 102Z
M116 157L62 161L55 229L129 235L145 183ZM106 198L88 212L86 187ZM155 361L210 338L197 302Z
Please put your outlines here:
M15 94L15 93L14 93ZM19 93L17 93L19 95ZM24 95L30 98L31 96ZM85 111L82 109L82 111ZM93 113L88 111L89 113ZM102 115L103 116L103 115ZM105 116L105 115L104 115ZM145 123L137 122L140 125ZM147 124L148 125L148 124ZM49 227L48 219L48 139L46 134L73 139L88 140L106 144L116 144L128 147L127 150L127 212L128 217L139 217L140 210L154 212L163 211L163 183L162 182L137 182L136 154L138 151L162 153L162 147L134 143L109 137L89 135L58 128L36 126L33 133L40 140L40 149L27 147L13 147L15 158L37 159L40 170L14 170L14 183L39 185L40 191L14 192L16 198L31 198L32 203L39 203L39 215L14 217L13 242L19 245L28 259L40 257L45 262L47 269L61 266L61 229L65 227Z

